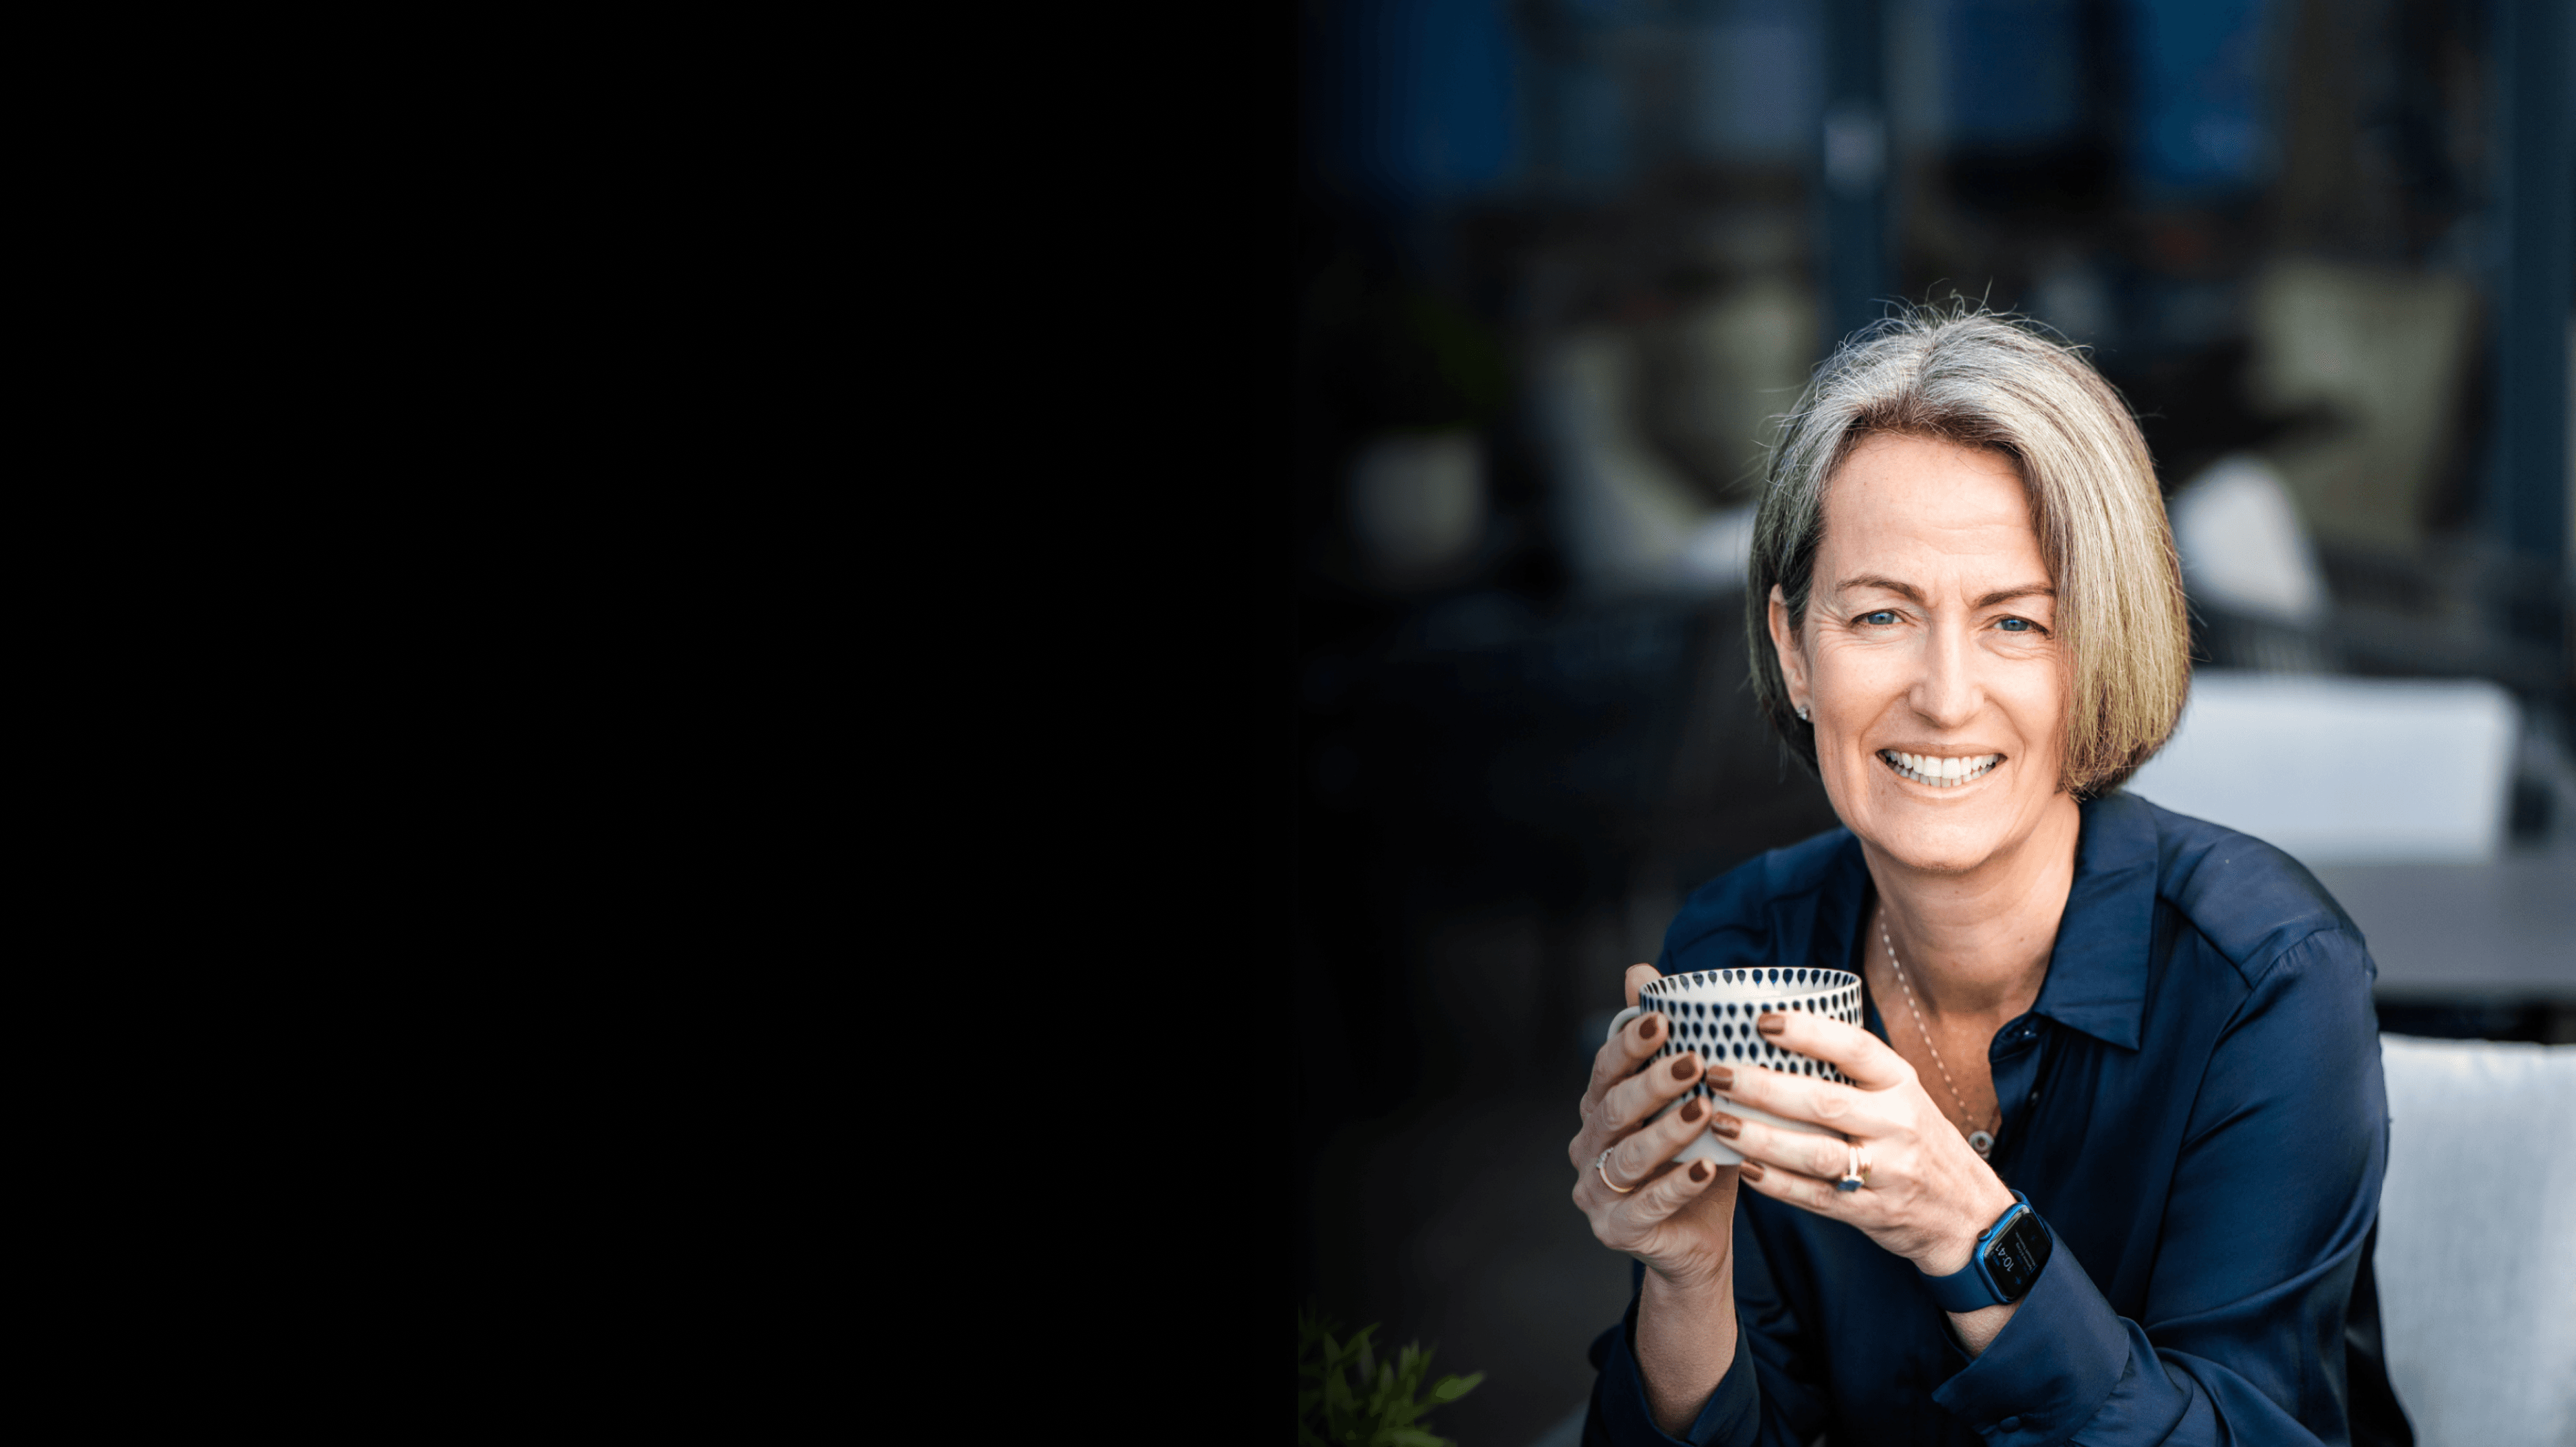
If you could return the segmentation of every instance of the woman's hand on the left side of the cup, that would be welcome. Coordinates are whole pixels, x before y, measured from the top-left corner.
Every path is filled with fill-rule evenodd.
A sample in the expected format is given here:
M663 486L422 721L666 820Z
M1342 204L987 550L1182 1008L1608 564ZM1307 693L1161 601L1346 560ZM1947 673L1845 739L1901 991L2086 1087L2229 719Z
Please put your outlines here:
M1654 978L1654 966L1628 966L1628 1004ZM1736 1169L1672 1164L1674 1151L1708 1130L1703 1099L1687 1099L1646 1125L1646 1117L1700 1084L1698 1050L1654 1058L1667 1030L1672 1022L1662 1014L1641 1014L1602 1043L1584 1089L1584 1128L1566 1146L1566 1159L1577 1169L1574 1205L1592 1218L1592 1236L1602 1246L1646 1262L1649 1272L1674 1285L1698 1287L1721 1280L1731 1264ZM1607 1161L1602 1151L1610 1151ZM1613 1184L1628 1187L1628 1195L1610 1190Z

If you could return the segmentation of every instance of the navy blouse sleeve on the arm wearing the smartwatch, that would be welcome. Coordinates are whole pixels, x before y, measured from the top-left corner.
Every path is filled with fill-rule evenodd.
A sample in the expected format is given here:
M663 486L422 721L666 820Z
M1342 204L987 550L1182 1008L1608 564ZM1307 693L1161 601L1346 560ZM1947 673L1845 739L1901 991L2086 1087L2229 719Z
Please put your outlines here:
M2370 958L2344 932L2311 935L2208 1056L2146 1321L2058 1249L1932 1401L1996 1447L2344 1442L2344 1311L2385 1166Z

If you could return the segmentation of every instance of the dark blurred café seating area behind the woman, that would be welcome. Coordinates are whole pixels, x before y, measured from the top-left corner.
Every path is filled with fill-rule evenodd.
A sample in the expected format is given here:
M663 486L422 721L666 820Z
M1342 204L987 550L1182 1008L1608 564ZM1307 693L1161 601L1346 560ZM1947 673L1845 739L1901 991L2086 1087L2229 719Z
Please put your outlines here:
M2136 793L2300 855L2385 1030L2576 1040L2563 0L1306 0L1298 1298L1538 1442L1625 1262L1584 1063L1829 829L1744 687L1770 420L1891 299L2092 348L2200 677Z

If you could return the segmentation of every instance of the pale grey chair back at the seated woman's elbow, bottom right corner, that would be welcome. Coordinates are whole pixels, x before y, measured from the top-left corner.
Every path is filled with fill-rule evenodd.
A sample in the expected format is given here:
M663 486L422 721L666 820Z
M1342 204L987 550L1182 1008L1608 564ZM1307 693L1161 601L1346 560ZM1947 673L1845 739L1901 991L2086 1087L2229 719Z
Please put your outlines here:
M2576 1442L2576 1045L2383 1035L2380 1061L2380 1339L2416 1442Z

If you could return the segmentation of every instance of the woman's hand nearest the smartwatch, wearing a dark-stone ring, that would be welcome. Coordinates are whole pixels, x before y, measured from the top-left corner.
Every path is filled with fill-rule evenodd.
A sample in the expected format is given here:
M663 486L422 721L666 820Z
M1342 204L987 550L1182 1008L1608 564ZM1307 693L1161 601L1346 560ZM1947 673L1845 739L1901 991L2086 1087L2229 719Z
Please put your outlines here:
M1710 1128L1759 1169L1744 1187L1832 1220L1850 1220L1870 1241L1932 1277L1968 1264L1976 1233L2012 1205L2012 1192L1986 1166L1950 1117L1932 1105L1914 1066L1878 1035L1806 1012L1765 1014L1757 1030L1783 1050L1842 1066L1855 1084L1790 1076L1762 1066L1710 1066L1708 1084L1783 1120L1814 1120L1842 1135L1806 1135L1718 1107ZM1734 1071L1734 1084L1721 1074ZM1868 1159L1865 1190L1837 1190L1850 1151Z

